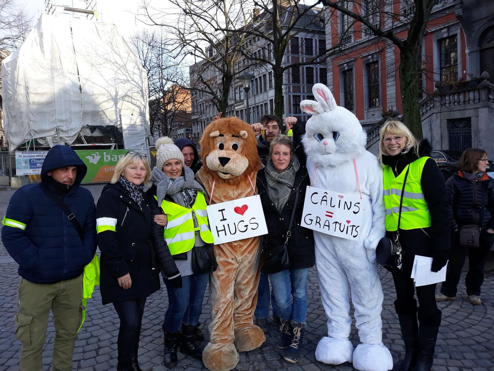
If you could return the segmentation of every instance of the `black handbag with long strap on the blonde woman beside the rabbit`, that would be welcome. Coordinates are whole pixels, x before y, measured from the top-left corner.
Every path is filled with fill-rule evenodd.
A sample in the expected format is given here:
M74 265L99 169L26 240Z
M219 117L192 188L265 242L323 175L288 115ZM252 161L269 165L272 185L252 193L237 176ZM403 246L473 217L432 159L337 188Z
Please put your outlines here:
M398 213L398 225L396 232L388 232L386 236L379 240L377 247L375 249L375 255L379 264L387 268L398 268L402 269L402 259L405 253L402 250L400 243L400 220L401 220L401 210L403 206L403 195L405 193L405 185L407 184L408 172L410 170L410 165L408 165L407 172L405 174L405 179L403 180L402 194L400 198L400 211Z

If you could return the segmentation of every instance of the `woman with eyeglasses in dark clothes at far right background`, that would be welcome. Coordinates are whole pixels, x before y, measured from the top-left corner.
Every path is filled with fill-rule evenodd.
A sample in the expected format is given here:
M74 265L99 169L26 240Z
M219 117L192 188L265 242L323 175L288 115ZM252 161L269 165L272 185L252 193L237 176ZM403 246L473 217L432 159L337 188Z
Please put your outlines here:
M458 172L446 181L450 204L451 249L449 269L437 301L455 300L456 286L468 253L466 294L470 303L481 305L480 288L484 282L484 265L494 243L494 180L486 169L487 152L469 148L458 162ZM460 229L466 225L480 227L479 246L466 247L460 243Z

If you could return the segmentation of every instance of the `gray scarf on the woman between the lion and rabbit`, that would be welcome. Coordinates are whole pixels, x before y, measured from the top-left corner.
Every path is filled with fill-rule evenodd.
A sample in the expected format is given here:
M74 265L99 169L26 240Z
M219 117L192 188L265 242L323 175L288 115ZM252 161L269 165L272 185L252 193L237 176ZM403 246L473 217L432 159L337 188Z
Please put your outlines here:
M273 161L268 159L264 173L268 183L268 195L271 202L275 204L276 209L281 212L290 197L291 188L295 182L295 174L300 167L298 159L291 157L287 168L282 171L276 171Z

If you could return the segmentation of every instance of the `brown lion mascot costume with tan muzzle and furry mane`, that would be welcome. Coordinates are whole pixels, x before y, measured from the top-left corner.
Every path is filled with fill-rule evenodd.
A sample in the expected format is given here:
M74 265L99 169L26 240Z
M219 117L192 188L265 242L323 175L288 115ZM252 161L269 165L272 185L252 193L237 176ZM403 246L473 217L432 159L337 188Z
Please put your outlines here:
M206 200L218 204L254 194L261 161L254 132L242 120L224 118L207 125L200 141L205 166L197 179ZM250 178L250 181L249 181ZM214 189L213 189L214 184ZM218 268L209 277L211 323L203 362L211 371L228 371L237 366L239 353L259 347L266 337L253 325L259 283L261 237L214 246Z

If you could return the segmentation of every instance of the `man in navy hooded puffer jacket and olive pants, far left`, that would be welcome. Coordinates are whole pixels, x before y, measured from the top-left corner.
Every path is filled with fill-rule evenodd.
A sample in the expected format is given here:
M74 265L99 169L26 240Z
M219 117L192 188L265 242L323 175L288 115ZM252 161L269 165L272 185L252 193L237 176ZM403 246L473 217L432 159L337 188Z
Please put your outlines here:
M72 148L54 146L41 167L41 183L19 188L2 221L3 245L19 264L21 276L15 315L21 371L42 370L50 309L55 326L53 371L72 370L84 310L82 272L96 251L96 207L91 193L80 186L86 172ZM67 215L56 198L72 214Z

